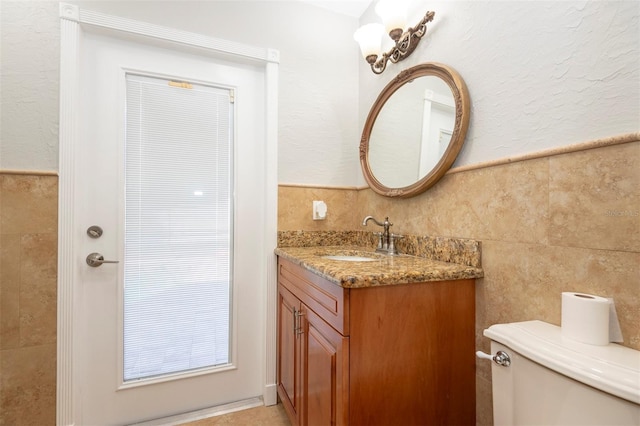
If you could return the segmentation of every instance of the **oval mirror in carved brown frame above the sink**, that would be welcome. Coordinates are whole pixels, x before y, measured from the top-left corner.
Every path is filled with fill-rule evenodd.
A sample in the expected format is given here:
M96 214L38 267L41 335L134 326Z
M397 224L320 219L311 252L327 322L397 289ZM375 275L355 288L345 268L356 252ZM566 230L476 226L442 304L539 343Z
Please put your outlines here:
M431 62L400 72L362 132L360 164L371 189L407 198L435 185L462 148L469 109L467 86L451 67Z

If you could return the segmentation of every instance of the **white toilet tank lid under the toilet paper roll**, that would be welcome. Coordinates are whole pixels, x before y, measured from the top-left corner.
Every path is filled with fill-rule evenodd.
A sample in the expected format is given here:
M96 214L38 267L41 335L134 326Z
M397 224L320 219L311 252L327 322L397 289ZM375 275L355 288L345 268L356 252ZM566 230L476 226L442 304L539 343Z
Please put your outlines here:
M484 335L560 374L640 404L640 351L580 343L543 321L496 324Z

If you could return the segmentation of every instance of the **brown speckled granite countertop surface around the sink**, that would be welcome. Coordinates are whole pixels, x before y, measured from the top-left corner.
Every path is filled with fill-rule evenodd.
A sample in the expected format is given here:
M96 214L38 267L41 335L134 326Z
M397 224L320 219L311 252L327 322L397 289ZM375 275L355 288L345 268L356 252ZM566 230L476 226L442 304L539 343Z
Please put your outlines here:
M375 257L375 261L330 260L322 256L350 254ZM275 253L345 288L481 278L482 269L426 257L389 256L361 246L278 247Z

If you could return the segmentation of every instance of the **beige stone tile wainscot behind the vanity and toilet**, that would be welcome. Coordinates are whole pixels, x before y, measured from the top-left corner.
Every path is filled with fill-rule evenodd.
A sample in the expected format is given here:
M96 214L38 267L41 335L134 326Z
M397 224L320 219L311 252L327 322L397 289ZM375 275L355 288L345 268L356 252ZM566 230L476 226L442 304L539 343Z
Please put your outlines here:
M613 297L624 345L640 350L640 142L582 147L450 173L410 199L366 189L333 190L325 201L344 221L341 229L362 229L362 218L371 214L389 216L400 234L480 240L480 350L489 351L482 331L491 324L540 319L559 325L562 291ZM318 195L325 196L281 187L279 229L317 230L292 210ZM477 423L489 425L490 365L477 365Z

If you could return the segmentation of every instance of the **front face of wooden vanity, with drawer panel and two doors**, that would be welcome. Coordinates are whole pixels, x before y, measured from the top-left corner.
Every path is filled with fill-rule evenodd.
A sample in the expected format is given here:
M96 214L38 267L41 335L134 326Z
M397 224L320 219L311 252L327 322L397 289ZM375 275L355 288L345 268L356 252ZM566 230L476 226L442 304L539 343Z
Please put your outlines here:
M278 395L294 425L349 424L344 302L341 287L280 260Z

